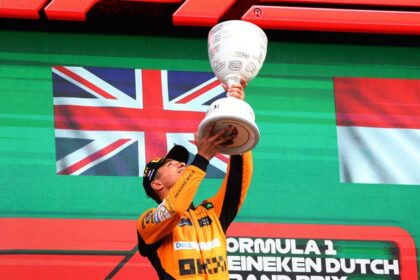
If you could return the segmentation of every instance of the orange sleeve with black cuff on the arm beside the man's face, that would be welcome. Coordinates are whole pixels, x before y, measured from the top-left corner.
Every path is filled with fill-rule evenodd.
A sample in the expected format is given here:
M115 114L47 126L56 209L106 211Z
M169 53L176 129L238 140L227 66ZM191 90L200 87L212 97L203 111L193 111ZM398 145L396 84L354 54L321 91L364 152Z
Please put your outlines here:
M193 198L206 176L208 161L197 155L193 163L182 173L168 196L156 207L145 211L137 220L139 239L152 244L170 233Z

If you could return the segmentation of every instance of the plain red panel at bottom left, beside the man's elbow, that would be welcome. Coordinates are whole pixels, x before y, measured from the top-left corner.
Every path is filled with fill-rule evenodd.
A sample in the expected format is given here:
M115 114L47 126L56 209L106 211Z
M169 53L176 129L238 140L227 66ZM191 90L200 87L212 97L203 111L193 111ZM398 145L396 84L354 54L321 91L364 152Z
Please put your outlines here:
M0 218L1 279L157 279L136 221Z

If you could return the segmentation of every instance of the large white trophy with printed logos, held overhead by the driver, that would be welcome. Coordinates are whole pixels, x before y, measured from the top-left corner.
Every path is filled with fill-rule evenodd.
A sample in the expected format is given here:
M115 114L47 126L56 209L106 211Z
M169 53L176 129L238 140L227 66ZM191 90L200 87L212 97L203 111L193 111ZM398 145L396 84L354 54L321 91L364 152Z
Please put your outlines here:
M267 53L267 36L253 23L229 20L210 30L207 47L214 74L229 87L233 83L240 83L241 78L249 82L257 76ZM260 138L254 111L248 103L238 98L227 96L214 101L198 127L199 135L205 135L212 123L215 123L213 133L230 125L237 132L233 142L220 150L223 154L249 151Z

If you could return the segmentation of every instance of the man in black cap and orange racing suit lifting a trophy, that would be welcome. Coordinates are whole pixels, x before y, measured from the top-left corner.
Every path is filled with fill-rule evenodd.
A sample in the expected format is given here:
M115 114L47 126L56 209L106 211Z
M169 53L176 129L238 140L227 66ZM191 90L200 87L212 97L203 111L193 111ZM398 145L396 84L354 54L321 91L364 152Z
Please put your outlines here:
M227 91L244 98L242 85ZM159 279L229 279L225 234L251 182L251 152L230 157L215 196L198 207L192 202L209 161L235 137L232 127L214 134L211 127L203 137L195 134L198 152L191 165L186 166L189 153L182 146L147 164L143 187L159 205L139 217L137 235L139 252L148 257Z

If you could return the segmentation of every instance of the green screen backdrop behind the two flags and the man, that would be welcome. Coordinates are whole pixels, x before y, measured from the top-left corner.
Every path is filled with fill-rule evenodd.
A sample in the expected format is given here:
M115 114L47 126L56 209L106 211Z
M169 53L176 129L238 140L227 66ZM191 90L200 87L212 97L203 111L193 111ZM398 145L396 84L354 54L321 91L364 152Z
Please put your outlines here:
M52 66L210 71L206 39L14 30L0 38L0 217L134 221L152 207L140 178L56 174ZM419 186L340 183L333 88L334 77L420 79L418 50L271 40L246 89L261 140L236 221L395 226L418 244ZM219 184L207 180L195 202ZM12 239L36 235L28 223Z

